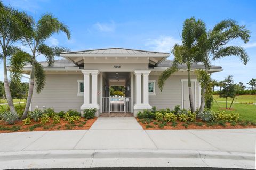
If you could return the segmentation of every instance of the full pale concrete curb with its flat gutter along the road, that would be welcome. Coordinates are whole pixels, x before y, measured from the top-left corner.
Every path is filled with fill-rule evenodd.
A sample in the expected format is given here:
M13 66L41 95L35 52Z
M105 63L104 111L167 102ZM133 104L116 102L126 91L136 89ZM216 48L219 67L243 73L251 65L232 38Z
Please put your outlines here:
M255 155L240 152L159 149L38 150L0 152L0 169L90 167L255 166Z

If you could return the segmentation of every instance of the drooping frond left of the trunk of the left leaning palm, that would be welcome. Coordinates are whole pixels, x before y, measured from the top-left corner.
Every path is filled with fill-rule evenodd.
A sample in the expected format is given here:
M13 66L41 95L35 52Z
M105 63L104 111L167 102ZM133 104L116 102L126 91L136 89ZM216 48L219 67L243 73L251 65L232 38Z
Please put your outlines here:
M11 81L14 84L20 84L23 67L30 61L30 54L18 50L9 60L9 69L11 72Z

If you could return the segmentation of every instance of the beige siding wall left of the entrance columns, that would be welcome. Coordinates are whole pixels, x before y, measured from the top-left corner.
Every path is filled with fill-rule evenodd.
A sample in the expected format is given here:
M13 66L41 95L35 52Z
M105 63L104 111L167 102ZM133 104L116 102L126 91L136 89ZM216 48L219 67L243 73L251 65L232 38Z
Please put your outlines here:
M32 109L38 106L42 109L54 108L56 112L68 109L80 110L83 96L77 96L77 80L83 80L83 75L46 75L46 84L43 91L37 94L34 90Z

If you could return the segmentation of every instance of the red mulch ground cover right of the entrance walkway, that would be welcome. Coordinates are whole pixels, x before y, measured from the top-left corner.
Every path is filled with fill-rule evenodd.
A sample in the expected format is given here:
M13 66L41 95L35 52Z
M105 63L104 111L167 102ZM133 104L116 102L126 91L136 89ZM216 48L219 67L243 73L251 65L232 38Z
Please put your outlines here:
M157 120L153 120L153 122L151 123L146 123L143 124L142 121L137 118L137 121L139 122L139 124L142 126L143 129L145 130L157 130L157 129L173 129L173 130L178 130L178 129L242 129L242 128L256 128L256 126L253 126L251 124L248 124L246 126L242 126L242 125L239 125L238 123L235 125L235 126L231 126L230 123L225 123L226 126L222 126L222 125L213 125L213 126L206 126L206 123L205 122L202 122L202 121L197 121L197 122L202 122L203 125L202 126L198 126L198 125L195 125L195 123L193 122L190 122L190 124L188 125L188 127L186 128L185 126L183 126L183 124L185 124L186 122L179 122L177 121L177 125L175 127L172 126L172 123L170 122L167 122L166 123L166 126L164 126L163 128L160 128L157 125L153 124L153 122L157 122L159 123ZM152 126L152 127L147 127L146 126Z

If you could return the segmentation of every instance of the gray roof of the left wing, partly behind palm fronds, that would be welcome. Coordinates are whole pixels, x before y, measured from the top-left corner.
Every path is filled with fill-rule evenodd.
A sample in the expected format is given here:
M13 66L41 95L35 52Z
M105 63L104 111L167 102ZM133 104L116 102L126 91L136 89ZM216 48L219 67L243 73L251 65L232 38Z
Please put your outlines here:
M49 67L47 61L42 61L39 62L43 67ZM31 64L27 64L26 67L31 67ZM50 66L49 68L54 67L54 68L63 68L63 67L77 67L76 64L73 62L66 60L66 59L61 59L61 60L55 60L53 65Z

